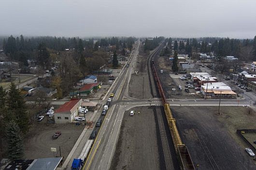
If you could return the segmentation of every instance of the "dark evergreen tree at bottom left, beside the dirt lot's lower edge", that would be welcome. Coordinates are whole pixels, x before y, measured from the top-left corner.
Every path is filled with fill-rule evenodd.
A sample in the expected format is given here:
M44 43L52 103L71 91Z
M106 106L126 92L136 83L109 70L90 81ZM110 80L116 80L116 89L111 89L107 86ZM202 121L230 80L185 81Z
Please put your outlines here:
M21 158L23 156L23 144L19 126L15 121L10 121L6 125L5 134L8 144L8 157L11 159Z

